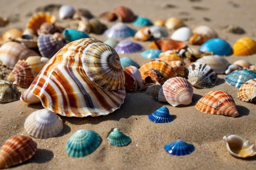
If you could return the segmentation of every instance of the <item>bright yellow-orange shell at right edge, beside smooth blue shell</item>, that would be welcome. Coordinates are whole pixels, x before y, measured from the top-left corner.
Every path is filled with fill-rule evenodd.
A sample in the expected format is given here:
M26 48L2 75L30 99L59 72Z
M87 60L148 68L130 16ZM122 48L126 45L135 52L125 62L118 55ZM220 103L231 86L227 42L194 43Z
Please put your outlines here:
M240 38L233 46L234 55L252 55L256 53L256 41L251 38Z

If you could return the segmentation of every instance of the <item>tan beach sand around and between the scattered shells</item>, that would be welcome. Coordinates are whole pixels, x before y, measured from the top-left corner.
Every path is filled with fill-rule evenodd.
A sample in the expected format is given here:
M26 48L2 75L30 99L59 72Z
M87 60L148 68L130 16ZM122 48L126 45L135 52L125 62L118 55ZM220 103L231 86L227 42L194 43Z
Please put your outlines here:
M38 7L52 4L51 0L1 0L2 17L9 17L11 23L0 28L0 33L11 28L25 29L27 19ZM74 7L89 9L95 16L114 7L130 7L135 14L154 21L168 19L172 16L185 20L193 29L205 24L211 26L220 38L233 45L238 38L256 35L255 7L256 1L247 0L55 0L54 4L69 4ZM167 5L170 4L170 5ZM169 6L169 7L168 7ZM198 8L202 7L202 8ZM58 18L58 10L52 11ZM60 26L76 28L78 21L57 21ZM115 22L106 23L107 26ZM129 24L136 28L132 24ZM237 25L245 29L243 35L227 33L223 28ZM136 28L138 29L138 28ZM103 35L90 34L101 41ZM132 38L128 38L132 40ZM147 49L148 42L139 42ZM120 55L130 57L140 65L148 62L140 53ZM256 55L247 57L225 57L230 63L243 59L256 64ZM226 149L222 137L239 135L256 144L255 122L256 106L242 102L237 98L238 88L225 83L225 75L218 75L218 82L213 88L194 88L193 102L188 106L175 108L169 104L156 102L143 92L126 93L124 104L114 113L99 117L62 117L64 128L60 135L50 139L36 139L36 154L25 163L15 166L13 170L255 170L256 157L237 159ZM195 108L195 103L207 92L226 91L234 97L239 117L227 117L202 113ZM22 89L24 91L24 89ZM148 115L157 108L166 106L176 119L168 124L155 124L148 120ZM25 119L35 110L42 109L41 104L26 105L21 101L0 104L0 144L13 135L27 135L24 129ZM120 128L132 138L125 147L110 146L107 136L112 128ZM70 136L79 129L90 129L99 133L102 142L91 155L73 158L65 152L65 144ZM186 156L173 156L164 150L164 145L176 139L184 140L195 146L195 151Z

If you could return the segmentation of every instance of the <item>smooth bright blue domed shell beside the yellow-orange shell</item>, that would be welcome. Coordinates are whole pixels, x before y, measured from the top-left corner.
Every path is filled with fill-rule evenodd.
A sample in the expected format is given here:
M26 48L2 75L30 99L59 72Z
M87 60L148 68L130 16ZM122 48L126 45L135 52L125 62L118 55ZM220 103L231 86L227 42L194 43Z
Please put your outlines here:
M233 53L230 44L220 38L213 38L204 42L204 44L200 46L199 51L203 53L212 52L215 55L231 55Z

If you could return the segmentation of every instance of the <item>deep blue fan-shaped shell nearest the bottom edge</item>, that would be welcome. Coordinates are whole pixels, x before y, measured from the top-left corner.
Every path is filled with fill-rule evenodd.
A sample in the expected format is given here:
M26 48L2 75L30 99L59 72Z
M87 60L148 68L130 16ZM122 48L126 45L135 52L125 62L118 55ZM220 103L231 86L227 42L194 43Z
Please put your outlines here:
M181 156L191 154L195 150L195 146L182 140L176 140L171 144L165 145L164 150L171 155Z

